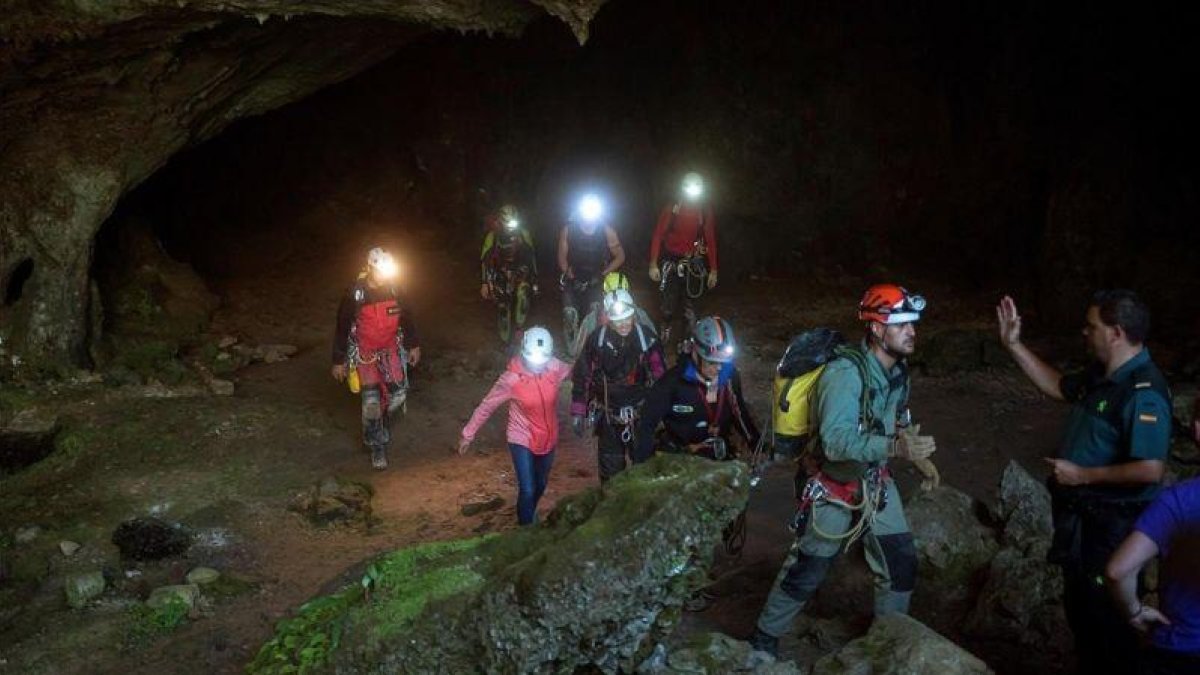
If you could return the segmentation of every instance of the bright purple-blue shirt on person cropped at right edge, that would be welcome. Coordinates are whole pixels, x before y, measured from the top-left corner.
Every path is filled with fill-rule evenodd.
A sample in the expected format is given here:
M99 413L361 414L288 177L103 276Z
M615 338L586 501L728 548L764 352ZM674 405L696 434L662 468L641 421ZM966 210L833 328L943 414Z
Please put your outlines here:
M1200 478L1163 490L1134 530L1154 542L1162 557L1158 604L1171 625L1154 629L1154 646L1200 655Z

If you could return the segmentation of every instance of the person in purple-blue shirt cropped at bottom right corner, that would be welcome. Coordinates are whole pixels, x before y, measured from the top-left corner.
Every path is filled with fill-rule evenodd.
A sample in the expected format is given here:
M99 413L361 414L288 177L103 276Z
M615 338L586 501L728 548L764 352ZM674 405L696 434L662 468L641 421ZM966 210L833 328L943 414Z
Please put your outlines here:
M1200 444L1200 425L1193 425ZM1138 575L1160 556L1158 608L1142 604ZM1141 675L1200 673L1200 478L1163 490L1112 555L1105 577L1117 610L1148 632Z

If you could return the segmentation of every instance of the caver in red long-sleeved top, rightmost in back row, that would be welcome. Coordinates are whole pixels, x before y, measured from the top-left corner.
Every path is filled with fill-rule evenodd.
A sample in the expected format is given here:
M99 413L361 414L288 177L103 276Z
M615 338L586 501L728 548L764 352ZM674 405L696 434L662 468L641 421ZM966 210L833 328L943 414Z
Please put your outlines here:
M689 173L680 192L679 201L662 208L650 239L650 279L662 295L664 344L671 340L680 305L690 330L696 322L692 300L716 286L716 219L703 198L704 180Z

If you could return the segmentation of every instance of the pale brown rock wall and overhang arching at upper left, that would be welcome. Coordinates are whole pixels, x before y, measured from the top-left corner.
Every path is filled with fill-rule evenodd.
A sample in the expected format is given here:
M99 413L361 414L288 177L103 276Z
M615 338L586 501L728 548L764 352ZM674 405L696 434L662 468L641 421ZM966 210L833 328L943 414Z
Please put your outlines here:
M583 38L601 4L11 7L0 22L0 347L31 362L84 359L92 237L118 199L180 149L355 74L430 30L514 35L548 11Z

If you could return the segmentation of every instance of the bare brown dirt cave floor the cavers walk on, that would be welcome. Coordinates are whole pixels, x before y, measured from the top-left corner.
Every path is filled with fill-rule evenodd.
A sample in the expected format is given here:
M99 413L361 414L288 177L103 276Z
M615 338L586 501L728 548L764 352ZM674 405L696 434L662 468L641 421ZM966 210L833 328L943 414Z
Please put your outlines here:
M20 480L0 483L7 492L0 495L0 532L38 526L41 533L25 544L25 552L42 551L48 558L42 590L0 597L10 603L0 611L0 673L238 673L289 609L373 554L515 526L503 412L485 428L473 454L452 452L460 429L504 364L492 313L478 297L474 249L454 257L433 238L420 237L401 237L394 245L402 251L424 359L413 372L407 416L394 424L391 467L371 470L359 443L358 401L329 375L334 310L355 273L358 243L332 251L293 246L277 265L235 283L215 283L223 306L214 334L250 344L290 344L299 353L239 371L233 398L126 399L100 386L64 398L64 424L80 430L83 438L78 456L32 478L18 474ZM557 335L558 297L546 281L534 318ZM854 330L860 285L845 280L806 287L746 279L708 298L708 306L727 317L738 334L739 364L761 422L770 372L786 339L820 324ZM647 286L635 294L650 299ZM929 294L934 309L922 331L988 325L992 300L955 297L952 305ZM1038 458L1054 448L1064 412L1006 370L916 375L912 405L937 437L935 460L943 480L979 500L994 496L1010 459L1044 476ZM594 446L569 432L565 405L560 411L564 435L542 512L596 483ZM898 473L902 491L910 494L916 473L907 466ZM287 510L293 495L331 474L373 486L377 522L370 530L318 530ZM505 500L499 510L461 515L461 504L493 494ZM715 599L688 616L683 634L720 629L745 637L752 631L790 544L785 524L791 509L791 477L779 467L751 497L744 552L719 561ZM174 580L191 566L206 563L245 581L245 591L167 637L130 647L121 640L120 603L65 608L61 574L67 568L56 562L55 550L60 539L73 538L91 560L128 578L130 566L116 563L109 534L120 520L148 513L200 528L208 544L193 546L182 562L144 566L143 579ZM133 577L121 590L146 589ZM923 614L935 613L936 605L936 599L918 598L914 613L928 620ZM823 590L814 603L820 616L863 617L869 608L865 579ZM806 663L812 656L794 643L785 647L785 657ZM1028 671L992 665L1001 673Z

